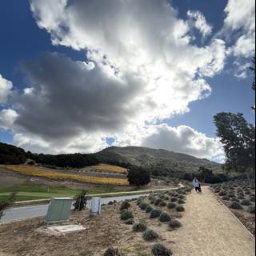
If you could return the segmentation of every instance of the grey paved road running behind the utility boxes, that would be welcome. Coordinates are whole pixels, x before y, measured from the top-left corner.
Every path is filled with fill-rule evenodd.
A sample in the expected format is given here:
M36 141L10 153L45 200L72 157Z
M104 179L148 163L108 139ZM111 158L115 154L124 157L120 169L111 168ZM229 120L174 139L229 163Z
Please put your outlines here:
M113 198L102 198L102 204L107 204L110 201L121 202L126 199L139 198L140 196L145 196L147 194L137 194L137 195L129 195L122 197L113 197ZM87 204L87 207L90 207L90 201ZM48 209L48 204L40 205L40 206L22 206L22 207L13 207L6 212L1 219L2 223L16 222L26 218L35 218L46 216Z

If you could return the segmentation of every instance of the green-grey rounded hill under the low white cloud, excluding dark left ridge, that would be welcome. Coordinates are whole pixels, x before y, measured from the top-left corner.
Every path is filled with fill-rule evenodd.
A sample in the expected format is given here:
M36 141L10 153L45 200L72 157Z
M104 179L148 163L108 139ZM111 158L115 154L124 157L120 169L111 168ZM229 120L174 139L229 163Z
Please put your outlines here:
M222 171L222 165L206 159L195 158L188 154L175 153L168 150L154 150L146 147L112 146L96 154L100 162L107 162L119 166L143 166L152 172L195 172L204 166L214 172Z

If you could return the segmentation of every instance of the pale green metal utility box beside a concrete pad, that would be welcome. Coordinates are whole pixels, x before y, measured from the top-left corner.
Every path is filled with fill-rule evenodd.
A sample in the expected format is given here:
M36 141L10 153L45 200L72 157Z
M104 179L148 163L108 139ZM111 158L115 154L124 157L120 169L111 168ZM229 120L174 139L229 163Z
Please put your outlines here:
M63 222L70 218L72 198L51 198L46 222Z

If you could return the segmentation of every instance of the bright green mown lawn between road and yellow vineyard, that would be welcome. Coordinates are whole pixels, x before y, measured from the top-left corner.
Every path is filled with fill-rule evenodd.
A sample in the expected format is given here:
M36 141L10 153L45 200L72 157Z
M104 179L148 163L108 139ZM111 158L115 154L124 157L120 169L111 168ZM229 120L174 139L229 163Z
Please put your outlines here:
M86 186L84 187L86 190ZM64 186L47 186L43 184L30 184L24 183L15 186L0 188L0 202L8 198L10 193L17 192L16 201L28 201L44 198L62 198L62 197L74 197L79 194L81 188L67 188ZM89 194L101 194L118 192L113 186L91 186L89 188Z

